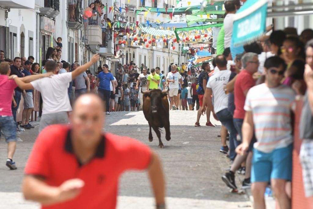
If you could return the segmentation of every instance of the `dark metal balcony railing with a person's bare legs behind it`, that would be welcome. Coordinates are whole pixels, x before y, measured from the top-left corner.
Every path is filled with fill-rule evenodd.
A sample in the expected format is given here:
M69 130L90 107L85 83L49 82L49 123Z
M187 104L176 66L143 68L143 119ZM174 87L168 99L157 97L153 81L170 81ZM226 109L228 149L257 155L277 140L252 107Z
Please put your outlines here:
M84 10L82 8L82 0L69 0L68 5L68 22L77 22L83 24Z

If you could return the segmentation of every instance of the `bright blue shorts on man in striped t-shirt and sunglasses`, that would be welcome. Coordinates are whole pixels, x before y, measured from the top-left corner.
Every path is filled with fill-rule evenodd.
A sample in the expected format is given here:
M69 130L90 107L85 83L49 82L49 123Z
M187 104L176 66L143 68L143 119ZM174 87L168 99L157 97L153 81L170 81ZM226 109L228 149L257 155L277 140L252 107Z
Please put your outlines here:
M270 182L271 179L291 180L292 149L292 144L274 149L270 153L253 149L251 182Z

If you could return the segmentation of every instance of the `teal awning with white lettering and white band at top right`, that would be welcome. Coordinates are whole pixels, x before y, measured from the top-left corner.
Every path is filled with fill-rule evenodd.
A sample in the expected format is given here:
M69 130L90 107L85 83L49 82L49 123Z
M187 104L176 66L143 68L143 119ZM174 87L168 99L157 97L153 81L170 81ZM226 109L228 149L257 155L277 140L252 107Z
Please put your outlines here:
M233 23L234 46L251 43L264 34L267 3L268 0L247 0L237 11Z

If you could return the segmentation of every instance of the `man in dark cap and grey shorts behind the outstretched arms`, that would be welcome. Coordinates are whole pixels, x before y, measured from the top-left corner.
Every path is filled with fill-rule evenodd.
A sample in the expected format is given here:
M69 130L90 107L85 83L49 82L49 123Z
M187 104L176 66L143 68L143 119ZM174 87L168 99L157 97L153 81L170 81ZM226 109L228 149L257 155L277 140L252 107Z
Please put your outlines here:
M25 76L31 76L32 73L31 68L32 68L32 62L26 60L24 63L25 69L22 71ZM30 123L29 123L29 118L30 114L33 112L34 109L34 103L33 103L33 90L25 90L26 94L23 94L23 99L24 99L24 109L23 109L23 114L22 114L22 122L20 124L21 128L26 128L26 129L31 129L34 128Z

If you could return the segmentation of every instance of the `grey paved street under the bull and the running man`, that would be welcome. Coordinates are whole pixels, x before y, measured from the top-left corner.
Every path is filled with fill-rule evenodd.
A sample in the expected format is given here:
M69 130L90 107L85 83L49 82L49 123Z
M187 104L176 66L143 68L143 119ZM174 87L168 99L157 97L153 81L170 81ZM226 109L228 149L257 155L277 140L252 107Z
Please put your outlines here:
M149 127L142 112L114 112L106 117L104 130L119 135L137 138L148 144L162 159L167 182L168 208L239 208L251 206L246 195L232 194L221 180L229 165L224 154L218 152L221 142L217 138L220 123L212 118L212 127L194 127L195 111L171 111L171 141L165 140L164 149L158 148L158 139L153 132L153 142L148 141ZM200 120L205 125L205 117ZM38 128L26 130L20 136L15 161L18 170L10 171L4 165L6 144L0 141L0 209L38 208L38 205L23 201L20 193L23 169L32 149ZM239 176L243 179L243 176ZM239 182L238 182L239 185ZM154 208L152 192L146 173L129 172L120 181L118 208Z

